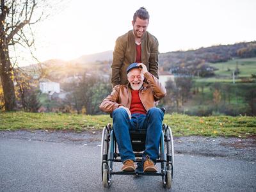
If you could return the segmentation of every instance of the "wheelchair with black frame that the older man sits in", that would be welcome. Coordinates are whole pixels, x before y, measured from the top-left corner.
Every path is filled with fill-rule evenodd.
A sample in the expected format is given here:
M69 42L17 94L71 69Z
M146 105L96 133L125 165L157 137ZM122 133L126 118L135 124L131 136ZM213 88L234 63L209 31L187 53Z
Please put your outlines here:
M164 108L161 108L165 112ZM112 116L111 116L112 117ZM147 130L130 131L132 150L134 151L136 163L141 163L142 154L145 150ZM101 138L101 174L102 184L104 188L111 186L112 175L150 175L161 176L164 188L170 189L173 180L173 136L172 129L166 125L162 125L161 140L159 146L159 154L157 163L161 163L161 171L159 172L115 172L113 171L114 162L122 162L118 152L118 146L115 138L115 132L111 124L108 124L102 130Z

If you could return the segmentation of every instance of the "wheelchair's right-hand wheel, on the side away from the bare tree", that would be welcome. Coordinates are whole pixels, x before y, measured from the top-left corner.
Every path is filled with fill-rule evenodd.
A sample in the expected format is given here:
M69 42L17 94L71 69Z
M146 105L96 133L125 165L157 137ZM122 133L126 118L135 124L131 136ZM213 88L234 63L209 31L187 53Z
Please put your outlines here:
M166 166L165 166L165 175L163 177L163 185L170 189L172 187L173 180L173 136L172 129L168 125L163 125L164 130L164 152L167 156Z

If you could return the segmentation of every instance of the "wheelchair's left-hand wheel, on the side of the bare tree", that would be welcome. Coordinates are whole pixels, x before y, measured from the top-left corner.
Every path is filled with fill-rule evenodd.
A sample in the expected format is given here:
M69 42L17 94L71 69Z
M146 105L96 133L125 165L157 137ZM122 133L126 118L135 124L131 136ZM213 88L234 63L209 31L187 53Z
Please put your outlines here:
M102 130L101 138L101 175L104 188L108 188L111 184L111 175L109 174L108 150L109 150L109 132L111 124L106 125Z

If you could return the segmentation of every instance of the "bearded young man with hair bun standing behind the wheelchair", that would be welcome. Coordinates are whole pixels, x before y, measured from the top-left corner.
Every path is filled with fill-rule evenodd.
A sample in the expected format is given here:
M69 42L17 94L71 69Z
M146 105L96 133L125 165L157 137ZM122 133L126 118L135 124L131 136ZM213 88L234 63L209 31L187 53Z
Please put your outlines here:
M131 31L116 40L113 52L111 83L127 84L126 68L131 63L144 63L148 71L158 79L158 41L147 31L149 15L141 7L134 13Z

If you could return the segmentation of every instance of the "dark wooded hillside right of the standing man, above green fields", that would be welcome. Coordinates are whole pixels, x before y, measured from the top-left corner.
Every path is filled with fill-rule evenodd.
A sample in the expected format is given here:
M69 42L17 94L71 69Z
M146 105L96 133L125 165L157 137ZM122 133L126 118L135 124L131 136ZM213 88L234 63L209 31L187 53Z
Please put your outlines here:
M159 66L173 74L189 76L214 76L216 66L234 58L256 57L256 42L243 42L234 45L216 45L190 51L166 52L159 55Z

